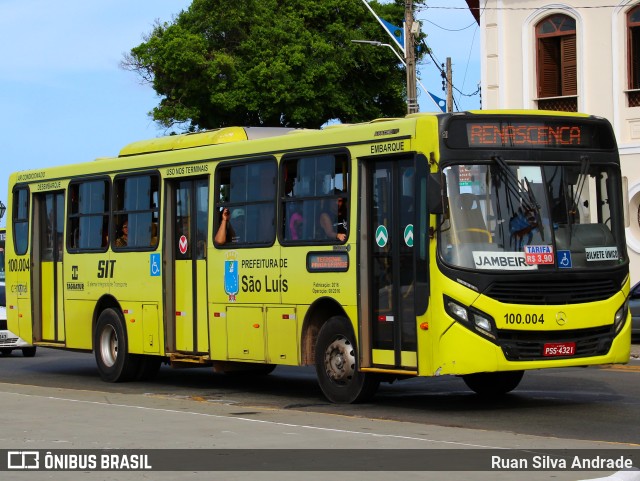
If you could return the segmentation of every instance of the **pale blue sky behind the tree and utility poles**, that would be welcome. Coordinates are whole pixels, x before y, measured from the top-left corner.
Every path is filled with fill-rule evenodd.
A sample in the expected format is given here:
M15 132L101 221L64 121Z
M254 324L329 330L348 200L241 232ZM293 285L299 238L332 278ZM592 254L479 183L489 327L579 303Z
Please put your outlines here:
M158 96L119 64L155 20L171 21L190 4L0 0L0 201L7 203L11 172L117 156L131 142L165 134L148 116ZM445 98L436 64L451 57L454 86L475 92L480 32L465 1L434 0L427 7L416 18L436 62L418 65L419 79ZM380 37L369 40L391 43L386 35L381 27ZM459 110L480 106L477 95L454 97ZM436 110L420 87L418 101L420 111Z

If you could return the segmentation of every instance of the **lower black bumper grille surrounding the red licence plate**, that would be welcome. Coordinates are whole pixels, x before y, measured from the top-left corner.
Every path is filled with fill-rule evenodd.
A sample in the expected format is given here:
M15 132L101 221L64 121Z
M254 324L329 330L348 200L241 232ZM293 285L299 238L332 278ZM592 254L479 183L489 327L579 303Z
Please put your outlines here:
M556 342L575 342L576 353L570 358L602 356L613 342L613 327L595 327L571 331L510 331L498 330L498 344L509 361L553 360L561 356L545 357L544 345Z

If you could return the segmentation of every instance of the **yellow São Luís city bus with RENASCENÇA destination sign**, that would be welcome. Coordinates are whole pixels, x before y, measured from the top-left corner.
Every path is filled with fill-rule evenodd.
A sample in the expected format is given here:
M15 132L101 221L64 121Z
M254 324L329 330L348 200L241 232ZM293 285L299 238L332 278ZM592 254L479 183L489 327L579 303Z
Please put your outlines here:
M93 351L109 382L315 365L333 402L414 376L505 393L628 362L623 181L584 114L136 142L11 175L9 328Z

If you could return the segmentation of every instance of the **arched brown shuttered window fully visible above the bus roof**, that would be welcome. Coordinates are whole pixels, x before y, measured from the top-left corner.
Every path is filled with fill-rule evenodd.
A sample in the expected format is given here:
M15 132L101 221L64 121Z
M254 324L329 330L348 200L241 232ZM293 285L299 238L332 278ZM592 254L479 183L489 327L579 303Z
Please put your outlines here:
M552 15L536 26L538 108L578 110L576 22Z

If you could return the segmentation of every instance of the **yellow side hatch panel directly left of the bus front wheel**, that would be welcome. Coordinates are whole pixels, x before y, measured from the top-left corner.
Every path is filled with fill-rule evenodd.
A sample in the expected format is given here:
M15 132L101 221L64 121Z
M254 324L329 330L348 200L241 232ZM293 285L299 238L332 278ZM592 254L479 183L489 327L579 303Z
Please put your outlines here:
M267 307L267 362L300 364L295 307Z

